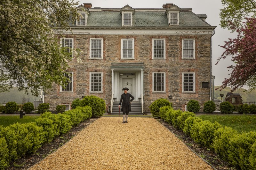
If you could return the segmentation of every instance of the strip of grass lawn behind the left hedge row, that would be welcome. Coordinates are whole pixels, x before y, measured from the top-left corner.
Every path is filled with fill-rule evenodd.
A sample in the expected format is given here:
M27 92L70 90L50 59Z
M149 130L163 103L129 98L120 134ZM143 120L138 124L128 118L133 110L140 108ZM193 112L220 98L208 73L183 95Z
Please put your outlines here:
M35 119L39 116L23 116L22 119L20 119L20 115L15 116L0 116L0 125L3 125L4 127L9 126L13 123L28 123L28 122L35 122Z

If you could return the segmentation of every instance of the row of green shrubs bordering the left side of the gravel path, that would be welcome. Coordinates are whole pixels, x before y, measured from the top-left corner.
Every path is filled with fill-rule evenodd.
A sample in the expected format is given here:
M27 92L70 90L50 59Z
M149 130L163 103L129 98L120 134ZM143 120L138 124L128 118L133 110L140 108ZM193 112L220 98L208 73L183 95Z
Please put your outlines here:
M42 144L90 117L92 108L85 106L59 114L44 112L35 122L0 126L0 170L8 167L10 161L36 152Z

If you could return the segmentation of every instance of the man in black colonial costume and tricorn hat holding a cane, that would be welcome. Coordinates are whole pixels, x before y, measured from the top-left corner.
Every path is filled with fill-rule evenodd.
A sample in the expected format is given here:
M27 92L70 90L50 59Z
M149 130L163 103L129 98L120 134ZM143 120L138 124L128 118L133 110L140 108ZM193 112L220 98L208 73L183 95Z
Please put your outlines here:
M127 87L124 87L122 90L124 91L124 93L121 95L121 99L120 99L118 107L121 107L121 103L122 103L122 108L121 108L121 111L123 111L123 122L122 123L128 123L128 121L127 121L128 114L129 114L129 111L130 112L132 111L131 102L132 102L132 100L134 100L134 97L132 96L132 94L128 93L129 89ZM130 98L132 98L132 99L130 100ZM125 118L126 118L126 120L125 120Z

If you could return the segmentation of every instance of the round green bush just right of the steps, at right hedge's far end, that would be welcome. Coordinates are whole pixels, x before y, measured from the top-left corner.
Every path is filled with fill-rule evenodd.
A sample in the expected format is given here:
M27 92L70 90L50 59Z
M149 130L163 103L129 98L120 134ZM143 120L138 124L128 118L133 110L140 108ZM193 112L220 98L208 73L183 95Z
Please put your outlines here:
M164 106L171 106L172 107L172 103L170 103L167 99L163 99L163 98L155 100L149 106L152 116L153 117L160 117L160 115L159 115L160 108L164 107Z

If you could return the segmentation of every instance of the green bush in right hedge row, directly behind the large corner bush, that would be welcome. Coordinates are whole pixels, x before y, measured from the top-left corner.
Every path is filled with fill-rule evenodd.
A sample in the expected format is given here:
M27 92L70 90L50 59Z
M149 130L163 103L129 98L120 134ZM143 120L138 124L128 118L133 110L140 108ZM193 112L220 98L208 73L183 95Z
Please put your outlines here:
M214 133L212 147L223 160L228 160L228 148L230 139L234 138L238 132L230 127L221 127Z

